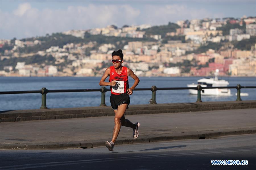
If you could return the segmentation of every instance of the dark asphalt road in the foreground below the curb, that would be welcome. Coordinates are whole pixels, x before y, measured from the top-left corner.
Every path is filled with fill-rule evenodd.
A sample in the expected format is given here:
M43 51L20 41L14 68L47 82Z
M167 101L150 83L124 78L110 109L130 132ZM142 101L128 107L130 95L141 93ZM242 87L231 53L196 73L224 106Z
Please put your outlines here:
M2 150L0 169L256 169L256 135L66 150ZM211 165L247 160L248 165Z

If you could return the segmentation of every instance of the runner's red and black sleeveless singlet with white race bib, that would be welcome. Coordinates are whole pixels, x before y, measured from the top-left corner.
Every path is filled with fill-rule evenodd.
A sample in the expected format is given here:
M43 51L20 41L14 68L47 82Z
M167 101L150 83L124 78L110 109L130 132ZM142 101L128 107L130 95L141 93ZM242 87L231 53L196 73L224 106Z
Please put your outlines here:
M127 93L127 90L129 89L127 67L123 66L121 74L117 74L114 66L110 66L109 82L113 80L116 80L116 85L110 86L111 94L121 95Z

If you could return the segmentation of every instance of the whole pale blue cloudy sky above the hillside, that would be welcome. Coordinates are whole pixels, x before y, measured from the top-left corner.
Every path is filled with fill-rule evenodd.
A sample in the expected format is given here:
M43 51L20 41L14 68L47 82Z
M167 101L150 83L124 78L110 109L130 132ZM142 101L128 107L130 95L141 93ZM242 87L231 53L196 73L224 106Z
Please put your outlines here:
M0 39L45 36L108 25L166 25L178 20L256 15L256 1L0 0Z

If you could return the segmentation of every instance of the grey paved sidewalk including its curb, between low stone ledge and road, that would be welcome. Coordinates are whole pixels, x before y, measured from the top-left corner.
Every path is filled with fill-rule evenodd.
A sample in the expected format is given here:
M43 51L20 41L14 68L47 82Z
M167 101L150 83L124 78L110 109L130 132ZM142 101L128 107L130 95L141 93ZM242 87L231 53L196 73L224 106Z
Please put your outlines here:
M256 109L127 115L140 122L139 137L121 127L115 144L213 138L256 133ZM3 122L0 149L65 149L104 146L111 140L114 116Z

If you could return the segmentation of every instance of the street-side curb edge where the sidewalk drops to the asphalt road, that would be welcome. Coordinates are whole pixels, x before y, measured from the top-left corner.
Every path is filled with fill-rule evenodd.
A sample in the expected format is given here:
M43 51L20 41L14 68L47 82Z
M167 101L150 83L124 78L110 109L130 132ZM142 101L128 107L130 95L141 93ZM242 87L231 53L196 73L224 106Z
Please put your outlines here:
M116 140L115 145L121 144L136 144L148 142L161 142L170 140L184 140L184 139L207 139L216 138L229 135L245 135L255 134L256 129L243 128L243 129L229 129L229 130L216 130L216 131L197 131L186 132L179 134L164 134L164 135L149 135L143 136L139 139L119 138ZM49 143L4 143L0 144L0 150L48 150L48 149L67 149L67 148L95 148L105 146L104 142L109 139L91 140L91 141L75 141L75 142L49 142Z

